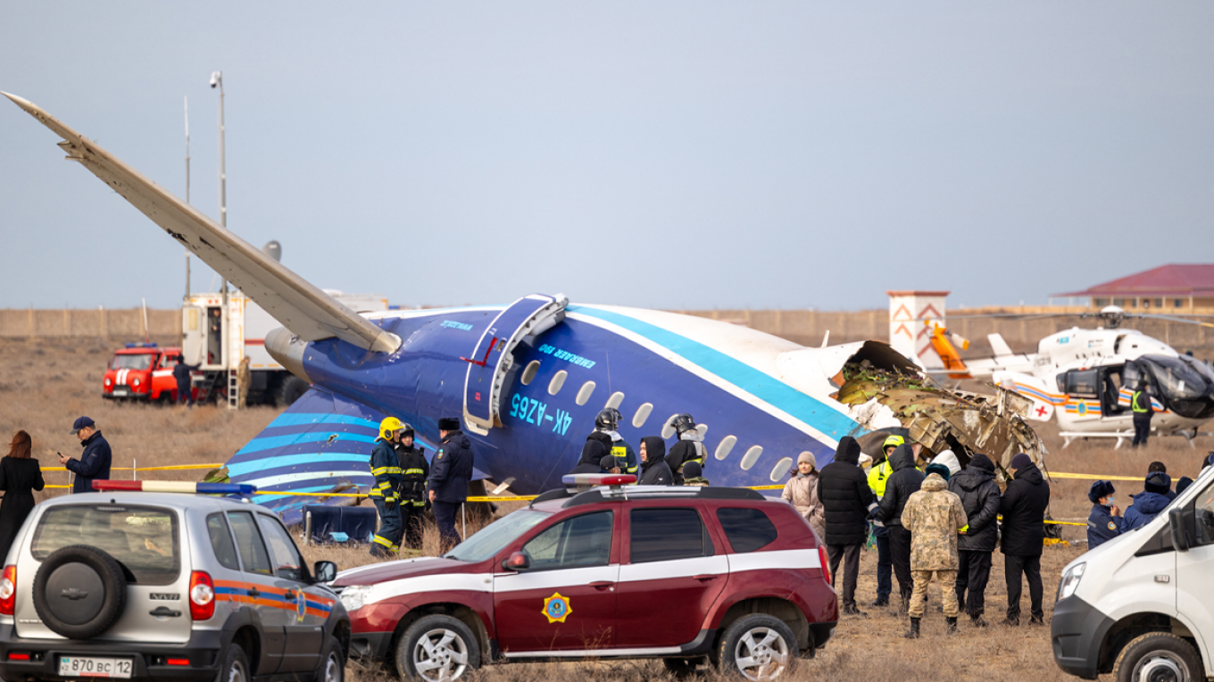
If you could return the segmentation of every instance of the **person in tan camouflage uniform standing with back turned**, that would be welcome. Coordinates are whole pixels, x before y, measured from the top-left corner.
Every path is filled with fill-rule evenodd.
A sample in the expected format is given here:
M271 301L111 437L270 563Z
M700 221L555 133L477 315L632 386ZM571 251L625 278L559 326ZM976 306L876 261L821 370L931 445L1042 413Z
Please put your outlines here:
M919 619L927 602L927 582L934 576L942 587L948 633L957 632L957 535L969 525L961 499L948 490L948 467L927 465L926 473L923 487L910 495L902 510L902 527L910 532L910 573L914 576L910 630L906 633L910 640L919 637Z

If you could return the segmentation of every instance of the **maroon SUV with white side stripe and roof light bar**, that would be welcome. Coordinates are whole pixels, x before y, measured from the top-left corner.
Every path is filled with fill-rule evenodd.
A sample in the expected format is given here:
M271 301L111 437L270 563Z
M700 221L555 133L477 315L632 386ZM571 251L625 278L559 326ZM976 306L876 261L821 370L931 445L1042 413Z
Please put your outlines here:
M443 557L341 573L351 654L435 682L566 658L660 658L676 674L707 658L771 680L830 638L826 547L792 506L592 478L613 487L545 493Z

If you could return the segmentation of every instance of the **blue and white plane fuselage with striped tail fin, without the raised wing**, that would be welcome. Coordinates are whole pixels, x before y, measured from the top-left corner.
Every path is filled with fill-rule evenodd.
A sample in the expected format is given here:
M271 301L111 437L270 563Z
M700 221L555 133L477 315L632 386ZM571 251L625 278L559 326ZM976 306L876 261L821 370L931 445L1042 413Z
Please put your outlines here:
M439 417L464 414L473 348L506 308L369 316L402 339L393 353L328 339L296 342L293 359L267 341L287 366L301 366L313 390L232 457L232 481L278 491L257 501L287 517L308 501L290 491L325 491L341 482L365 488L380 419L407 421L432 444ZM787 479L800 453L813 453L821 467L840 437L867 431L829 398L838 390L829 379L864 346L805 348L707 318L569 305L563 322L514 347L498 424L486 433L465 431L483 476L534 494L558 487L577 465L603 407L624 415L619 432L634 448L642 436L660 434L669 449L670 417L690 413L700 425L714 485L772 485Z

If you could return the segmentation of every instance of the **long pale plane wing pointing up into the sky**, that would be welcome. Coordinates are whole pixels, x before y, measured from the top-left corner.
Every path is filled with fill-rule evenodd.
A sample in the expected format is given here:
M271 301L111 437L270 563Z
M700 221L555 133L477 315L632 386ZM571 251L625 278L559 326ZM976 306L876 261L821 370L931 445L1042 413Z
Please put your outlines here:
M59 147L68 153L68 159L80 161L300 339L318 341L336 336L368 351L388 353L401 346L395 334L334 300L96 142L32 102L7 92L2 95L62 137Z

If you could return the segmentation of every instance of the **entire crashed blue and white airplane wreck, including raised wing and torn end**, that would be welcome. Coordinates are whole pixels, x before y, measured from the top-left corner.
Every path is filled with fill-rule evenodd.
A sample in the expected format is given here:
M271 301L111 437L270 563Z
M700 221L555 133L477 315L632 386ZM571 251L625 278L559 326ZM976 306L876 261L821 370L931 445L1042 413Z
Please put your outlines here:
M673 438L671 417L692 414L714 485L782 483L800 453L823 466L841 437L881 428L918 430L931 448L948 434L981 449L994 445L988 431L1020 433L1015 410L972 400L946 415L938 404L891 407L875 393L836 399L846 368L919 380L913 363L878 341L806 348L711 319L560 295L359 316L42 109L10 98L63 138L69 159L283 324L266 348L312 388L227 470L259 485L256 501L288 519L311 501L296 493L371 482L367 456L387 415L431 444L439 417L460 416L478 476L520 494L560 485L603 407L623 414L619 432L634 448L642 436ZM1040 456L1036 436L1025 443ZM1003 459L1004 450L991 454Z

